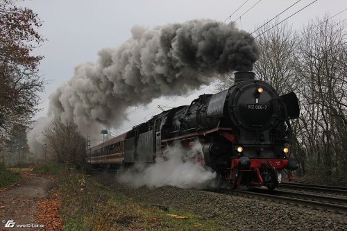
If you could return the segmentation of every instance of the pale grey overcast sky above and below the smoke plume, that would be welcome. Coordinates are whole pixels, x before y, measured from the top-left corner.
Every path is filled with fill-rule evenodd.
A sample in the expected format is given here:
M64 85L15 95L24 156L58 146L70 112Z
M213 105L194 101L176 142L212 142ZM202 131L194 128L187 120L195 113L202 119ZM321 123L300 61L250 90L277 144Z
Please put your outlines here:
M44 94L42 94L42 117L47 112L48 97L56 87L71 78L74 67L85 62L94 62L97 52L106 47L117 47L130 37L130 29L135 25L149 28L192 19L210 18L220 22L237 20L237 26L245 31L254 31L257 25L278 15L297 0L248 0L242 8L237 10L246 0L128 0L128 1L87 1L87 0L27 0L22 5L37 12L43 21L40 33L47 39L35 51L44 55L40 64L40 74L47 80ZM280 20L285 19L314 0L302 0L293 8L283 13ZM257 3L257 4L256 4ZM256 4L256 5L255 5ZM255 5L255 6L254 6ZM246 12L249 8L251 10ZM311 6L298 12L287 20L294 28L301 28L314 17L322 17L325 13L331 16L347 8L346 0L319 0ZM235 12L237 10L237 12ZM235 12L232 15L232 12ZM245 15L243 15L246 12ZM232 15L232 17L229 17ZM243 15L241 18L240 16ZM229 17L229 18L228 18ZM347 19L347 10L334 19ZM150 119L160 110L157 105L185 105L189 104L198 94L210 93L205 87L200 92L193 92L192 96L176 99L157 99L146 107L137 110L129 117L129 122L123 129L131 128L137 123ZM130 111L133 110L130 108ZM144 118L146 117L146 118ZM124 130L112 131L120 134Z

